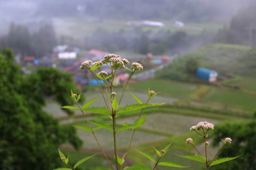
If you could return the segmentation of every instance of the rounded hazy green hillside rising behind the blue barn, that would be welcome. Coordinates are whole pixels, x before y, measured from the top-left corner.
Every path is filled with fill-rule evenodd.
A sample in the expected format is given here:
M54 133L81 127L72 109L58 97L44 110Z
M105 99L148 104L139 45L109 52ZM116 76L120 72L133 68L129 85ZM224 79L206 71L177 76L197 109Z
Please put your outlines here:
M191 59L198 63L198 67L216 70L220 75L231 77L234 75L252 76L256 68L249 67L256 56L249 55L251 48L231 44L210 44L196 49L186 55L176 58L168 66L156 73L157 78L189 81L194 74L187 72ZM248 59L248 56L251 59Z

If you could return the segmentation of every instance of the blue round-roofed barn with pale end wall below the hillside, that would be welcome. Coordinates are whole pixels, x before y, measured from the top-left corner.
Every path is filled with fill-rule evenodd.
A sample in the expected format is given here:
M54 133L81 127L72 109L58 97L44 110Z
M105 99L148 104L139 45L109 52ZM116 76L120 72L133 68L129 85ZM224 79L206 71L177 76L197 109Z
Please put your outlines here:
M198 68L196 70L196 77L207 80L208 82L216 82L218 78L218 73L214 70Z

